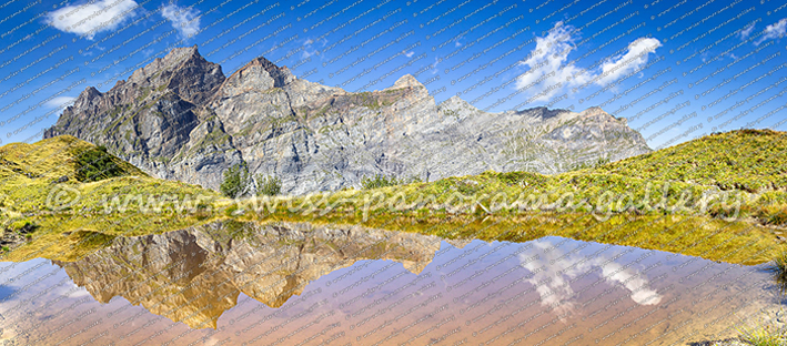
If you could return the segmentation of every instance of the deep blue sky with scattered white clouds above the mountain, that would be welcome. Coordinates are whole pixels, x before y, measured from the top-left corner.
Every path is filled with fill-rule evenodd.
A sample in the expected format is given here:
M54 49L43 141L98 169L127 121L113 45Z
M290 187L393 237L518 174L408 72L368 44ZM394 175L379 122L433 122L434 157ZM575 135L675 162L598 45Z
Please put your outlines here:
M602 106L663 147L787 130L787 6L698 0L0 3L0 140L34 142L88 85L198 44L225 75L263 55L349 91L405 73L437 102Z

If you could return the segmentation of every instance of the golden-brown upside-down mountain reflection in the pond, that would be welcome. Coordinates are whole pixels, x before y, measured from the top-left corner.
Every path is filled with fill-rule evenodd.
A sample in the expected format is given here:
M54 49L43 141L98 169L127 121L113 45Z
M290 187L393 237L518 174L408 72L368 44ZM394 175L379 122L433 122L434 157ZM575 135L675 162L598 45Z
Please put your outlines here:
M357 226L231 221L118 237L78 262L54 263L100 303L121 296L192 328L215 328L241 293L280 307L309 282L362 260L393 260L418 274L440 242Z

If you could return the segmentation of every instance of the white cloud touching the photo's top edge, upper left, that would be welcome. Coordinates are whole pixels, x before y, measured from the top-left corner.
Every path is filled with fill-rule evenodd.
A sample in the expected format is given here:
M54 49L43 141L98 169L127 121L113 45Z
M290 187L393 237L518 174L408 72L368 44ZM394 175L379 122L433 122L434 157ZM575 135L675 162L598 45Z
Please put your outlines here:
M69 4L47 16L56 29L83 35L89 40L101 32L114 30L137 9L133 0L98 0L93 3Z

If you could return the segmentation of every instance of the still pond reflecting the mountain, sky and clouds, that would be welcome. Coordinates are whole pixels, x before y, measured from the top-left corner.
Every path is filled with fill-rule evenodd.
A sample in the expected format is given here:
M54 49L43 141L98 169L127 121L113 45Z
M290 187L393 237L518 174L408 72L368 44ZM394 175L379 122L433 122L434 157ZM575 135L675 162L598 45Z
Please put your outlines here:
M52 263L0 264L0 340L684 345L778 308L759 266L562 237L232 222Z

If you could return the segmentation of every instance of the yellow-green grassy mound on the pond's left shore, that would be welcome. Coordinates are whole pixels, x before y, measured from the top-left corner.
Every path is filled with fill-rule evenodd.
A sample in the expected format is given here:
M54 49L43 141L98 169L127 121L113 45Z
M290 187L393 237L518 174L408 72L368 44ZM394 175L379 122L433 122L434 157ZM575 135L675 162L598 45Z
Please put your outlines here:
M124 176L79 182L74 177L74 157L93 146L63 135L34 144L12 143L0 147L0 227L8 233L17 232L26 223L38 226L32 242L6 254L7 260L75 260L114 236L173 231L208 218L204 213L105 214L107 196L219 197L215 192L199 186L150 177L117 157L114 161L125 171ZM62 176L68 176L68 181L56 183ZM77 195L79 199L74 200ZM52 205L67 207L53 212L49 207Z

